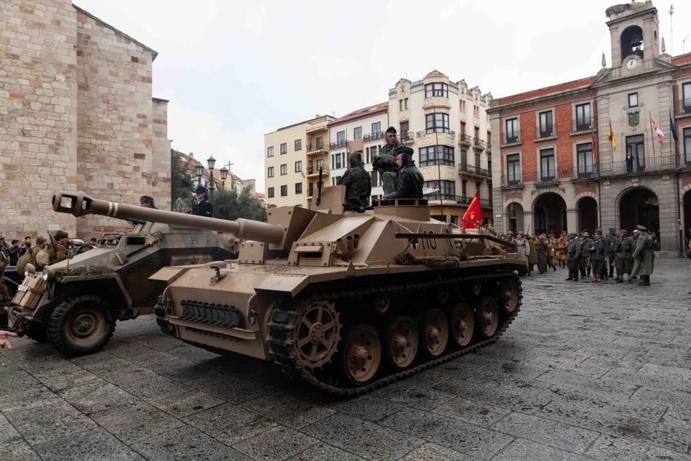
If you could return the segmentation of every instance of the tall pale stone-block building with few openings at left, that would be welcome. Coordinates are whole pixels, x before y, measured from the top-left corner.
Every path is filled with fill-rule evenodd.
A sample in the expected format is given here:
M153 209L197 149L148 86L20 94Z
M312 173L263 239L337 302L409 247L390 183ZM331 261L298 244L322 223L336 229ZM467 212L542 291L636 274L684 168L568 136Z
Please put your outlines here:
M8 0L0 17L0 231L124 229L55 214L53 191L170 204L167 101L152 97L156 52L69 0Z

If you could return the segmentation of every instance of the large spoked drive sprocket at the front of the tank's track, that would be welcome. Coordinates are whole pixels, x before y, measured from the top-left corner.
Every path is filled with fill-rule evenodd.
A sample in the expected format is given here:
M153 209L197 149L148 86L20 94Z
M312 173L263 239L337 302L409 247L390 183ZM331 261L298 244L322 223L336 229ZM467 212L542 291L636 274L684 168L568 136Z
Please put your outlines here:
M300 312L293 344L303 366L317 368L330 361L340 340L341 323L332 303L316 301Z

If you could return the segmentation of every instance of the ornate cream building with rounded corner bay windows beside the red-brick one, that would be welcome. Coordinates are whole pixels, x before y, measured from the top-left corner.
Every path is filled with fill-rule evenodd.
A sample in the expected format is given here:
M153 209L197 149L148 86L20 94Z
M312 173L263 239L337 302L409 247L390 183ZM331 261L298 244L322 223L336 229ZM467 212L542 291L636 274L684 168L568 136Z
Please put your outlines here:
M486 223L492 222L490 93L452 82L433 70L423 79L400 79L389 90L388 118L402 142L415 151L432 214L458 225L475 192Z

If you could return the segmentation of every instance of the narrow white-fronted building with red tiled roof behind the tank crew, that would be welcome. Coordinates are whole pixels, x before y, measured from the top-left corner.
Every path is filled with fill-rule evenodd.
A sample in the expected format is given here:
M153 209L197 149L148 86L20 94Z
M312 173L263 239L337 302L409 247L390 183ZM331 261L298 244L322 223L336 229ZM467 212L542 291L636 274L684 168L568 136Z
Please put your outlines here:
M348 153L361 152L365 169L372 176L372 197L381 197L381 176L372 171L372 159L386 144L384 131L388 128L388 102L352 111L329 124L329 176L337 185L348 169Z

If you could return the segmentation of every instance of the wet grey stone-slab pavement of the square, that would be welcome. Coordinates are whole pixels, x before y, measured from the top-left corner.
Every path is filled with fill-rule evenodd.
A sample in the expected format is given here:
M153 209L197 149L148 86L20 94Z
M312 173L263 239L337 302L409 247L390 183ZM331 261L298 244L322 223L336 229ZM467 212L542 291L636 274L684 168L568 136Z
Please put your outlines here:
M498 344L343 401L165 337L152 317L76 359L15 339L0 458L691 459L690 276L658 258L650 288L524 278Z

